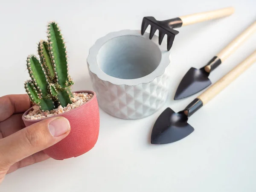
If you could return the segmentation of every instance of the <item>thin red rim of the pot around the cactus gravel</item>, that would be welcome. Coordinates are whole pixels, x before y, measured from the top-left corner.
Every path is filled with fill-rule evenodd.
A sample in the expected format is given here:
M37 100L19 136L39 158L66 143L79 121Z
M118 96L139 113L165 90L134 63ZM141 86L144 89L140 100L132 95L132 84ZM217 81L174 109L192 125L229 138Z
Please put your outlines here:
M80 90L80 91L72 91L72 93L92 93L93 94L93 97L87 101L86 103L84 103L83 105L80 105L78 108L74 108L74 109L71 109L70 111L67 111L65 113L61 113L61 114L58 114L58 115L55 115L55 116L63 116L64 114L67 114L67 113L70 113L70 112L73 112L73 111L76 111L78 109L80 109L81 107L84 107L84 105L87 105L88 103L90 103L93 99L96 98L96 92L92 91L92 90ZM26 121L26 122L39 122L41 120L44 120L44 119L49 119L51 117L55 117L55 116L51 116L51 117L46 117L44 119L26 119L24 116L27 115L29 113L29 111L31 111L33 107L29 108L27 111L25 111L22 115L22 120L23 121Z

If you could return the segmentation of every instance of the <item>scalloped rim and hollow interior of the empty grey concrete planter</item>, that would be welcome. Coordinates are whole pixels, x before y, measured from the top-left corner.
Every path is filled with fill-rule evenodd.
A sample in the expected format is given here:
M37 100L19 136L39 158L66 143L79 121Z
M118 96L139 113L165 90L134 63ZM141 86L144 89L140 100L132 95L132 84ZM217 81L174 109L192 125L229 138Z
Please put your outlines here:
M111 32L99 38L87 57L89 70L99 79L116 85L149 83L163 75L170 63L166 43L139 30Z

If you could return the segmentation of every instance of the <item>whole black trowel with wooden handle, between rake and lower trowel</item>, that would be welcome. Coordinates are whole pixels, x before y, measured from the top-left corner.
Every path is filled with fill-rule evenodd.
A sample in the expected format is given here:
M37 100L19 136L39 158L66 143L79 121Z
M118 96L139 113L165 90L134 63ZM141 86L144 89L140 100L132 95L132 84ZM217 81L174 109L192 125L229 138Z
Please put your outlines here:
M200 69L191 67L180 81L174 100L192 96L212 84L208 78L209 74L223 63L231 53L235 52L254 32L256 32L256 21L231 41L221 52L215 55L204 67Z

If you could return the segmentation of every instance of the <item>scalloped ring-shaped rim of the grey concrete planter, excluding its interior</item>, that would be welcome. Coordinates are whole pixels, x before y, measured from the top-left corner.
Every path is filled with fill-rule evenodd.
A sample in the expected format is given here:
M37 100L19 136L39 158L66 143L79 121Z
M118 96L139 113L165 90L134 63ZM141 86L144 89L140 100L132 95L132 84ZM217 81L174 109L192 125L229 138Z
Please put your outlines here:
M160 49L161 52L161 60L157 68L151 72L150 74L143 76L137 79L119 79L113 76L110 76L104 73L98 63L97 63L97 55L101 47L110 41L113 38L121 37L121 36L138 36L140 38L145 38L148 41L156 44L157 47ZM161 45L158 44L158 36L154 35L153 38L149 39L149 33L145 32L144 35L141 35L140 30L120 30L116 32L110 32L107 35L99 38L95 44L89 49L89 55L87 57L87 64L91 73L94 73L99 79L103 81L108 81L115 85L128 85L128 86L135 86L138 84L143 83L150 83L158 76L162 76L166 70L166 67L170 64L170 53L166 49L167 44L163 41Z

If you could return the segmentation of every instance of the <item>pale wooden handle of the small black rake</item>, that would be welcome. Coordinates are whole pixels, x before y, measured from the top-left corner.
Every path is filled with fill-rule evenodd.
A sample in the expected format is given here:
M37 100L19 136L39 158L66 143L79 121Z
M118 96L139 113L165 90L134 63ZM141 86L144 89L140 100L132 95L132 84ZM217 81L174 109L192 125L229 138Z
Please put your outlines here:
M200 23L206 20L213 20L221 17L226 17L232 15L234 12L235 9L233 7L227 7L224 9L217 9L214 11L201 12L192 15L182 16L180 17L180 19L182 20L182 26L186 26L194 23Z

